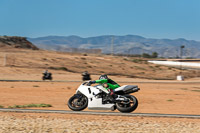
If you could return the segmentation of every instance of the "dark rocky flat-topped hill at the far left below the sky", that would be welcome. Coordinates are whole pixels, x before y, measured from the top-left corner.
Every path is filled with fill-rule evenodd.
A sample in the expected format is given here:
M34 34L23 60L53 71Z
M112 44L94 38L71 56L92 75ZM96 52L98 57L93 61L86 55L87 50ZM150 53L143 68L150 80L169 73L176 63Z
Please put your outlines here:
M39 50L25 37L17 37L17 36L0 36L0 47Z

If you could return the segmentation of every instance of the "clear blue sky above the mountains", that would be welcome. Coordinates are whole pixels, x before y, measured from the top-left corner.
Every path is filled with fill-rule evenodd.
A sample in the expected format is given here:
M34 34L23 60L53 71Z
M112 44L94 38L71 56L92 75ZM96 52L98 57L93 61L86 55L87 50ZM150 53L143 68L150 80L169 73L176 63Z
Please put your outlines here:
M0 0L0 35L200 41L200 0Z

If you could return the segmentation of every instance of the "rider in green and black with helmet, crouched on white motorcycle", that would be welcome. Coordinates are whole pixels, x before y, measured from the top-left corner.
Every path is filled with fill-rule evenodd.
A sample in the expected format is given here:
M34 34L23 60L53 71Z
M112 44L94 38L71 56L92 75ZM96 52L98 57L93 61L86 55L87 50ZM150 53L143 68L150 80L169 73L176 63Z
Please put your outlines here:
M115 81L113 81L112 79L108 78L108 76L106 74L101 75L99 77L99 80L94 80L94 81L90 81L89 84L94 84L94 83L101 83L104 84L104 87L108 90L109 94L112 97L117 97L116 94L114 94L114 90L118 87L120 87L119 84L117 84Z

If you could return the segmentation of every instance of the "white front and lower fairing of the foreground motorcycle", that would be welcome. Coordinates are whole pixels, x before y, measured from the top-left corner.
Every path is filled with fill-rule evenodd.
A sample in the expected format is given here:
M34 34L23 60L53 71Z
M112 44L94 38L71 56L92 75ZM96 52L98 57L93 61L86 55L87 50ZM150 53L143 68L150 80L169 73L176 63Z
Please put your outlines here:
M102 98L96 97L101 91L109 93L102 85L87 86L81 84L76 93L81 92L88 98L88 109L93 110L114 110L115 104L102 104Z

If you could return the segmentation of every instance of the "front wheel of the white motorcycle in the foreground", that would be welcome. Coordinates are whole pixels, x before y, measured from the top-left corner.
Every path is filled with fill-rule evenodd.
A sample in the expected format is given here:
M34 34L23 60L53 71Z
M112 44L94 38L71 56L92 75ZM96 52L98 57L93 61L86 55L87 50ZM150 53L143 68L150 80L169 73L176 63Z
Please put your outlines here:
M75 94L68 100L67 105L73 111L81 111L88 106L88 99L82 94Z

